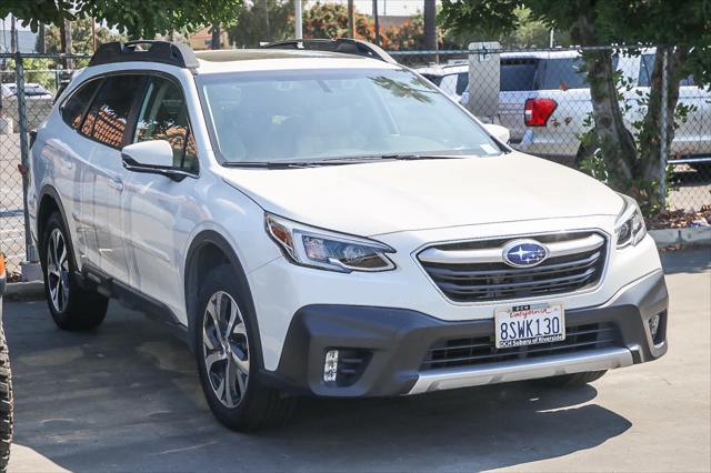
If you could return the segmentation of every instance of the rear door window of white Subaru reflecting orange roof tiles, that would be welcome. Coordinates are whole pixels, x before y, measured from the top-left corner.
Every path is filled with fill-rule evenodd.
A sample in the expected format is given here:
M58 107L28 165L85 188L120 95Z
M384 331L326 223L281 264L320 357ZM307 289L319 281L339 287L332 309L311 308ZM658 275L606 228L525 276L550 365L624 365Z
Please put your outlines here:
M136 100L142 90L144 76L110 76L104 79L94 98L81 132L111 148L120 148L126 124Z

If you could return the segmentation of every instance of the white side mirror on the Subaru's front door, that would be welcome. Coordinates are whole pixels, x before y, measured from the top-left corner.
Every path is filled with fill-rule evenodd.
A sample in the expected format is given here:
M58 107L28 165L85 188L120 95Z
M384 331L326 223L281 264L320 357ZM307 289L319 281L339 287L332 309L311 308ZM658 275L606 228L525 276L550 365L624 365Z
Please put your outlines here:
M173 167L173 148L166 140L150 140L123 147L123 168L132 172L162 174L173 181L192 175Z

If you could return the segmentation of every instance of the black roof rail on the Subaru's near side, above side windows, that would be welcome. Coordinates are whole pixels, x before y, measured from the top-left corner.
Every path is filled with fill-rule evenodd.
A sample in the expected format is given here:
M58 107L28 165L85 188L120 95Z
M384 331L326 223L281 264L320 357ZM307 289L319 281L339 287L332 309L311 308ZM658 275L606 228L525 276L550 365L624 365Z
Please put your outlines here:
M160 62L186 69L196 69L200 66L196 53L188 44L153 40L107 42L97 49L89 66L129 61Z

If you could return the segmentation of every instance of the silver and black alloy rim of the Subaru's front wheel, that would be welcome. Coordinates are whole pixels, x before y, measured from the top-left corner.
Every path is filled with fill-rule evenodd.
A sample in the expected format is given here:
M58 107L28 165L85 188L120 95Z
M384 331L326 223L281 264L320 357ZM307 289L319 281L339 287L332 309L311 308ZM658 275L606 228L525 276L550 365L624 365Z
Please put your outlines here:
M236 407L249 382L249 341L242 313L224 291L212 294L202 318L202 352L210 386L226 407Z

